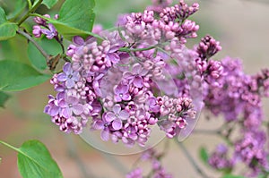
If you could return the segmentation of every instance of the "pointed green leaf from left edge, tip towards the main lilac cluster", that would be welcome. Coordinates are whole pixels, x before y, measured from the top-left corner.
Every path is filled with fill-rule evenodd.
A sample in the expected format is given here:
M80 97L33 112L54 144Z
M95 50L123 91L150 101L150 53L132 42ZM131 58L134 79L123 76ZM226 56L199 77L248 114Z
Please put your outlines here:
M0 61L0 71L0 90L4 91L29 89L51 77L37 72L30 65L12 60Z

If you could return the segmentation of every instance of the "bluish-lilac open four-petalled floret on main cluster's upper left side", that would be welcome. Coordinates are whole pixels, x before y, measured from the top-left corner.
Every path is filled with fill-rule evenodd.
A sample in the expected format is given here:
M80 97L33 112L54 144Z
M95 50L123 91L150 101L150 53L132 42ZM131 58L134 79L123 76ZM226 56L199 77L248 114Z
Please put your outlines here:
M70 63L65 63L63 72L57 75L57 80L65 82L67 89L73 88L75 82L80 80L80 73L74 72Z

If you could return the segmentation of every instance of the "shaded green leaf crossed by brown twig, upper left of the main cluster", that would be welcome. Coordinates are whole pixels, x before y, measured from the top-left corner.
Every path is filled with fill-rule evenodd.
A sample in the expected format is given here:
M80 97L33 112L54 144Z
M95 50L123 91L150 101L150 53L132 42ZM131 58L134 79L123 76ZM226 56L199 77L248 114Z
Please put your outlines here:
M37 40L40 47L42 47L48 55L57 55L62 51L61 46L56 42L56 39L40 38ZM32 43L28 45L27 54L29 56L30 63L39 70L45 70L47 68L46 58L39 52L37 47Z

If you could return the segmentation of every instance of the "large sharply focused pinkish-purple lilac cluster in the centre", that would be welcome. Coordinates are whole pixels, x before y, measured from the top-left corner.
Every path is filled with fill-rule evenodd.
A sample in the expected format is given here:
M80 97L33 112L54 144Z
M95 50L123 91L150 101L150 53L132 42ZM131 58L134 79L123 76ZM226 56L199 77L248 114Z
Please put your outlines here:
M126 146L144 146L156 124L167 137L178 136L196 118L192 84L184 76L199 73L196 53L184 44L196 37L198 25L186 18L197 9L180 1L161 13L126 15L121 30L99 32L101 42L74 37L66 52L71 63L51 80L57 95L49 96L45 113L61 131L80 134L91 125L102 140ZM183 70L182 61L193 67ZM198 88L201 77L191 81Z

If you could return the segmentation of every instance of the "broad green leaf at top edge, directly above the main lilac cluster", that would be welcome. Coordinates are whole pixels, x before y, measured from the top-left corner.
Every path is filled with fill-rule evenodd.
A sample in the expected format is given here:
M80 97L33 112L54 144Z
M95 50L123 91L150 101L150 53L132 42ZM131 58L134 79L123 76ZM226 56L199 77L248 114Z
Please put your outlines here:
M59 19L50 19L65 38L74 35L89 36L95 18L93 13L94 0L66 0L59 12Z

